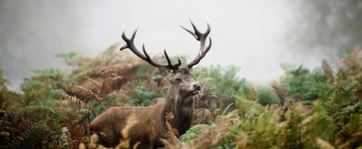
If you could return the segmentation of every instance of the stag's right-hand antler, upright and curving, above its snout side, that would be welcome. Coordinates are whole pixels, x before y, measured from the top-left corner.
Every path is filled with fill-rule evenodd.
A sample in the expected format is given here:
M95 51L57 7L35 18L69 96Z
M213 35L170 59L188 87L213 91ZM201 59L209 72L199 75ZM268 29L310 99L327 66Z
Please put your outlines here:
M189 18L190 19L190 18ZM190 19L191 21L191 19ZM206 46L206 50L205 49L205 42L206 42L206 38L207 35L209 35L210 33L210 24L209 24L209 19L206 16L206 21L207 21L207 30L205 33L200 33L200 31L198 31L196 29L196 26L194 25L194 22L191 21L192 27L195 30L195 33L189 29L186 29L186 27L181 26L183 29L185 29L186 31L188 31L189 33L191 33L196 40L200 41L200 53L196 56L196 58L194 60L191 61L191 63L187 64L186 67L191 68L194 65L198 64L200 62L200 60L206 55L206 53L210 50L211 47L211 37L210 38L210 43L209 46Z

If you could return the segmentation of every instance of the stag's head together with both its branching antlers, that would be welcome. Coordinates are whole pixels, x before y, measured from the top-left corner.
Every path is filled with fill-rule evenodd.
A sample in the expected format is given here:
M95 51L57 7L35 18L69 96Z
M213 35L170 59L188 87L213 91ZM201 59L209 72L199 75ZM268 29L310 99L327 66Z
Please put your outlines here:
M198 64L200 62L200 60L203 57L205 57L206 53L210 50L210 47L211 47L211 38L209 38L210 39L209 46L206 46L206 49L205 49L206 38L207 38L207 35L209 35L209 33L210 33L210 24L209 24L209 20L207 19L207 17L206 17L206 20L207 20L207 30L205 33L200 33L200 31L197 30L197 28L195 27L195 25L191 21L191 19L190 19L190 22L191 22L195 32L193 32L189 29L186 29L185 27L180 25L183 29L185 29L186 31L191 33L195 37L196 40L200 41L199 54L185 68L179 68L181 65L181 60L178 57L178 55L177 55L178 63L172 64L170 61L170 58L167 55L165 48L164 48L164 54L165 54L168 64L162 64L162 63L157 63L157 62L153 61L150 58L150 56L147 54L147 52L144 48L144 42L142 42L142 49L143 49L144 54L142 54L140 51L138 51L133 42L137 29L138 29L138 26L133 31L131 38L128 39L125 35L124 26L122 25L121 37L126 42L126 44L123 45L119 50L122 51L125 48L129 48L139 58L147 61L148 63L150 63L151 65L153 65L155 67L158 67L160 69L160 73L162 74L162 76L166 77L168 79L168 81L170 82L169 93L174 94L174 96L180 96L179 98L192 97L193 95L195 95L195 94L199 93L199 91L201 91L201 85L195 81L195 76L194 76L194 74L191 73L192 67L194 65ZM171 69L172 71L170 71L169 69ZM187 102L187 101L185 101L185 102Z

